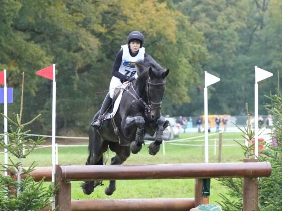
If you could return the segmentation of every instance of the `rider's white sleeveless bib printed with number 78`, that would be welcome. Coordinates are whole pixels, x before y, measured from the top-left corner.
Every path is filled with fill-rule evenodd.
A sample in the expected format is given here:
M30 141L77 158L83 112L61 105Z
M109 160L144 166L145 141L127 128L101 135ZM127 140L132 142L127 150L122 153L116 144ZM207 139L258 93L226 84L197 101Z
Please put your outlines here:
M145 48L143 47L140 48L138 54L135 57L132 57L130 55L128 45L122 45L121 48L123 50L123 54L122 54L122 61L118 71L123 75L137 78L138 75L136 73L138 68L136 62L138 60L144 59Z

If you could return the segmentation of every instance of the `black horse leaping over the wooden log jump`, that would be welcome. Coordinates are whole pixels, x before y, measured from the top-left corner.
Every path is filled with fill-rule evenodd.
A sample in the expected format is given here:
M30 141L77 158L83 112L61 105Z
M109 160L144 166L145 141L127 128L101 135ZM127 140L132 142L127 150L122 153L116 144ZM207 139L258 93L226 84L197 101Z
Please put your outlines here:
M104 120L99 130L89 127L86 165L103 165L103 153L108 147L116 153L111 165L122 164L130 151L135 154L141 150L145 133L153 136L157 131L155 141L149 146L149 153L155 155L159 151L163 130L168 126L168 121L161 116L161 103L169 70L165 71L151 56L137 62L137 66L139 77L124 89L114 117ZM98 116L99 112L93 120ZM101 181L85 181L82 184L83 192L89 195L100 184ZM111 180L105 193L111 195L114 191L115 181Z

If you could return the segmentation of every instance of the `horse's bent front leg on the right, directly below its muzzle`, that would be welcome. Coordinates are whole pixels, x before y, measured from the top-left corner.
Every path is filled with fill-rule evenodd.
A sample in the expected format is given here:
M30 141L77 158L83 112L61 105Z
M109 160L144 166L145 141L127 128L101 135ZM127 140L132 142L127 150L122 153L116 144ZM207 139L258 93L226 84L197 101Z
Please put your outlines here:
M165 118L163 116L161 116L158 120L157 120L157 131L156 131L156 137L155 137L155 141L152 142L149 145L149 154L150 155L156 155L157 152L159 152L160 150L160 145L163 141L163 131L164 129L168 126L168 121L165 120Z

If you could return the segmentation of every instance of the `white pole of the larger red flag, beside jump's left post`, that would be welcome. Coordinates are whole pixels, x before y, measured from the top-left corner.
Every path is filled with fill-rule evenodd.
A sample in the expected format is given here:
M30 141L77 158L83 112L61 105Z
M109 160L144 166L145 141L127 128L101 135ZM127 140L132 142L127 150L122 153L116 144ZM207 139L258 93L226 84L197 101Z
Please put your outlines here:
M56 171L56 64L53 64L53 96L52 96L52 187L55 187ZM55 195L53 195L52 210L55 209Z

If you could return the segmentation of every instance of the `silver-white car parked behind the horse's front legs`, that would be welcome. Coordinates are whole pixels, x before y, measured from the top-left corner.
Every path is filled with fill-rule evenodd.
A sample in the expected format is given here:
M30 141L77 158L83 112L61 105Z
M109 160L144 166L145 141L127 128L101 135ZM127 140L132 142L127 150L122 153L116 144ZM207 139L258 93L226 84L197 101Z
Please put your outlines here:
M179 136L179 128L176 125L176 120L172 117L166 117L166 120L169 121L168 127L163 132L163 140L173 140L175 137ZM145 134L145 140L154 140L156 133L153 136Z

